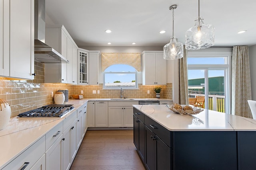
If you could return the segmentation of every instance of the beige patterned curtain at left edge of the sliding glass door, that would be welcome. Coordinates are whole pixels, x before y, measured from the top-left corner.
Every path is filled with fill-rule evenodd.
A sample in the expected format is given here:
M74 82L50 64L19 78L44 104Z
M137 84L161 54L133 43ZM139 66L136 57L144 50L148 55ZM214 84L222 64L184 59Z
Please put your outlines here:
M183 48L183 57L178 59L179 104L188 104L188 65L187 50Z

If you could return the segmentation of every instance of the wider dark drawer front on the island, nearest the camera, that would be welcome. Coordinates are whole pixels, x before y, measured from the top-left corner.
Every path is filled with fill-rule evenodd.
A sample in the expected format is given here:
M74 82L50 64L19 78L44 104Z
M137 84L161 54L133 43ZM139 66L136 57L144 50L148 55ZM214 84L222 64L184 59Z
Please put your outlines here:
M145 125L154 132L166 145L172 148L172 132L145 115Z

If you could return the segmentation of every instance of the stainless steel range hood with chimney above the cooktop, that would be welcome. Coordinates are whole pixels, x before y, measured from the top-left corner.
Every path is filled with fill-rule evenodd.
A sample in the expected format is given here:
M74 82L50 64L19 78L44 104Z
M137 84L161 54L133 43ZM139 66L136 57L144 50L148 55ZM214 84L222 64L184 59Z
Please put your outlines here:
M45 0L35 0L35 46L34 58L40 63L69 63L60 53L46 45Z

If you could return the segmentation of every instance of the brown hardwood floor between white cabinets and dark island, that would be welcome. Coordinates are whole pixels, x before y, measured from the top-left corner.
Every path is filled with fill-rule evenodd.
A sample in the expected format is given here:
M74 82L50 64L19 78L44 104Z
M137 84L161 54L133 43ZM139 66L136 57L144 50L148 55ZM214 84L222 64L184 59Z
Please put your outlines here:
M88 130L70 170L145 170L133 130Z

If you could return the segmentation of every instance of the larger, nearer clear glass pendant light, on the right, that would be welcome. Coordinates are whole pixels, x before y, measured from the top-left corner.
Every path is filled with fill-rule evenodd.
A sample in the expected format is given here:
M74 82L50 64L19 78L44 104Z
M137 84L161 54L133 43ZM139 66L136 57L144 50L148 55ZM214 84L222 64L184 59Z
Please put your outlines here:
M186 31L186 49L198 50L214 45L214 26L204 24L203 20L200 16L200 0L198 0L198 19L195 20L194 27Z

